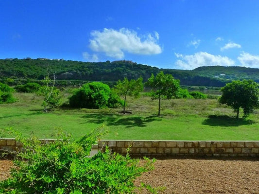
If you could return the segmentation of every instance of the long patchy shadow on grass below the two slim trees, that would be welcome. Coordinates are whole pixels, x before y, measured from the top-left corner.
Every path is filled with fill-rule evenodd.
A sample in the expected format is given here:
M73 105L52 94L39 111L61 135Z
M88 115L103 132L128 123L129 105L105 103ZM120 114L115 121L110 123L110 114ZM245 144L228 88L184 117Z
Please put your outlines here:
M156 116L149 116L149 117L141 117L141 116L130 116L126 118L122 115L110 113L110 114L87 114L83 116L86 118L87 123L96 123L102 124L105 123L107 126L120 126L124 125L127 128L138 126L138 127L145 127L147 123L151 123L153 121L161 121L160 118Z

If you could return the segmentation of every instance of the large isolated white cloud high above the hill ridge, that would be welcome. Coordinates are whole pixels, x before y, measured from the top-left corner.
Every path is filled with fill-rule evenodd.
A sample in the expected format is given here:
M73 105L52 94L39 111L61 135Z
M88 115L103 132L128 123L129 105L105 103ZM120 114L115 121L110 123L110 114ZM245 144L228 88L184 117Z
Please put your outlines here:
M92 31L89 47L95 52L104 52L107 56L123 58L124 52L133 54L159 54L161 47L157 44L159 34L140 38L137 32L126 28L119 31L104 28L104 31Z

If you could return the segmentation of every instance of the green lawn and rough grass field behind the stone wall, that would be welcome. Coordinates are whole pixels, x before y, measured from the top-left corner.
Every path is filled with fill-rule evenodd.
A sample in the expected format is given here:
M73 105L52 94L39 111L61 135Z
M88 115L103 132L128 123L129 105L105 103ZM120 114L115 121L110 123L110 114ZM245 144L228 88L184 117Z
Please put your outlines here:
M131 113L120 109L57 108L43 113L40 96L15 93L18 101L0 105L0 128L12 127L25 136L54 138L62 128L75 138L104 125L101 139L116 140L244 140L259 141L259 110L246 119L235 119L232 109L215 99L163 100L161 117L157 101L149 97L128 101ZM64 99L65 100L65 99ZM242 114L241 114L242 116ZM0 137L7 137L3 133Z

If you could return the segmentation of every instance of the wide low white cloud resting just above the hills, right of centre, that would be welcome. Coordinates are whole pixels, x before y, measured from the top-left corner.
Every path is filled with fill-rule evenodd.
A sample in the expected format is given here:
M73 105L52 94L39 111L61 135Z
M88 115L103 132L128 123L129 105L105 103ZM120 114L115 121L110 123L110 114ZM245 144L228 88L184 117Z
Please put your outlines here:
M201 66L233 66L235 62L226 57L221 55L213 55L206 52L198 52L192 55L183 55L179 53L174 53L178 59L175 64L180 69L184 70L192 70Z

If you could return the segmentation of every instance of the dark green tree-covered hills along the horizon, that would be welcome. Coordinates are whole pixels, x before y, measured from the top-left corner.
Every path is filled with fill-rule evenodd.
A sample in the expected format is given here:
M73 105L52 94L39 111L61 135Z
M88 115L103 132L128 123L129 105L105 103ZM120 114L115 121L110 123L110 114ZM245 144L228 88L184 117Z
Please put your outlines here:
M159 69L132 61L81 62L50 59L0 59L0 79L42 80L47 70L55 72L57 80L82 80L116 82L124 77L137 79L142 77L146 82L151 73L160 71L172 74L181 85L223 87L232 80L252 79L259 82L259 69L244 67L201 67L192 71ZM69 81L66 82L69 84Z

